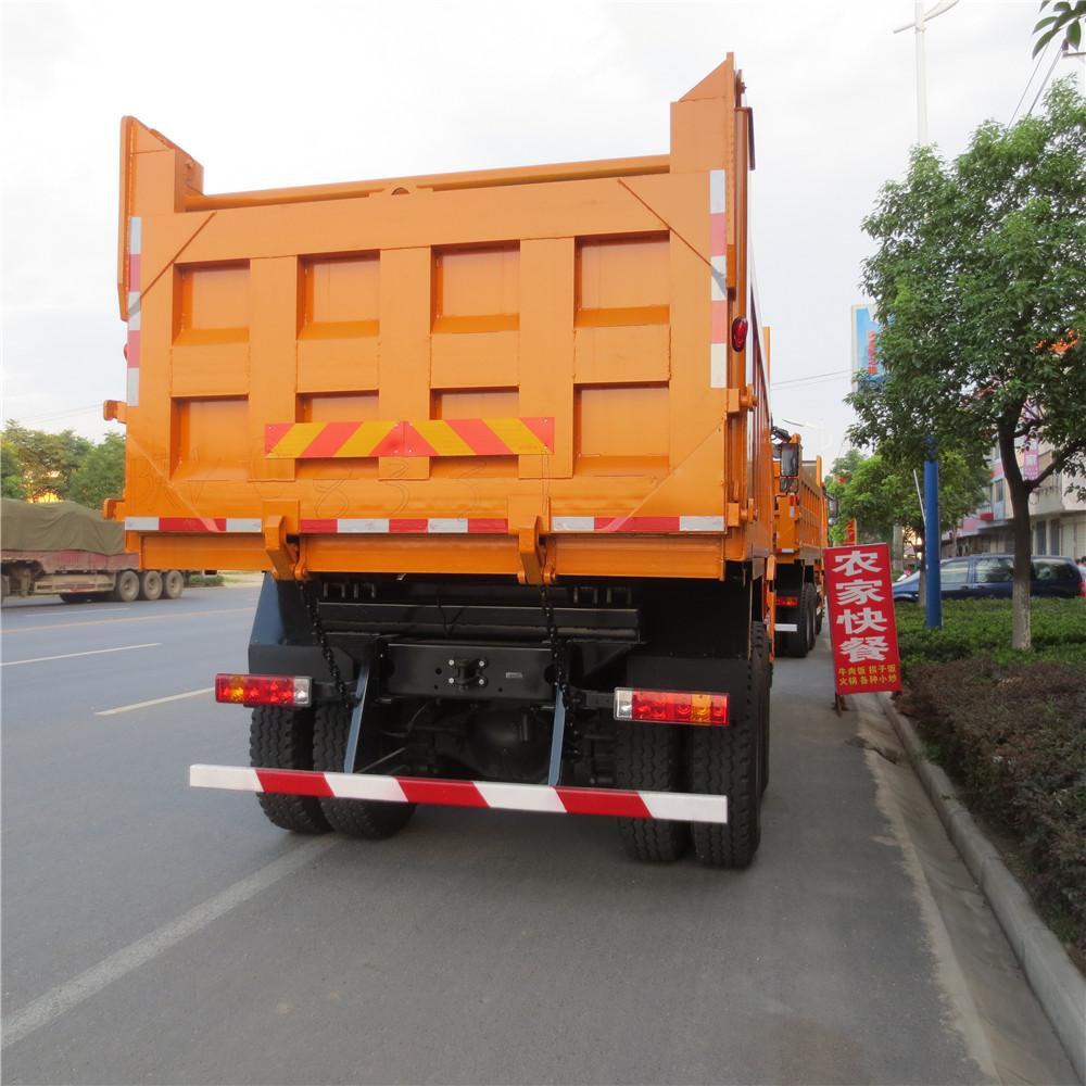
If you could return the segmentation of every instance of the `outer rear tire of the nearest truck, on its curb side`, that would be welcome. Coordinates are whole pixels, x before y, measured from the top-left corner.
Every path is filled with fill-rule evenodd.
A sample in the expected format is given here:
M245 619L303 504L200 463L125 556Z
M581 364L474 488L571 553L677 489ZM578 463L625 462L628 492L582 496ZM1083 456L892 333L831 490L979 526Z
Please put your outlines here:
M760 629L759 629L760 628ZM686 783L691 792L728 796L725 825L694 822L694 851L715 868L745 868L761 841L761 746L763 703L768 700L769 669L761 622L752 628L752 653L743 690L731 698L731 719L724 728L692 728L686 745Z

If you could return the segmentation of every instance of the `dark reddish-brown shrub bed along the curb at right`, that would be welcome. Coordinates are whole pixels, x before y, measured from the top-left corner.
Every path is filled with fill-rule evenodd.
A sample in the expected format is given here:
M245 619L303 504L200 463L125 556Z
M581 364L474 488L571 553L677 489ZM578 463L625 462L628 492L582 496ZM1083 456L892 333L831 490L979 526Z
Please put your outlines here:
M918 666L901 698L901 709L915 717L921 737L938 749L970 807L1021 847L1041 909L1081 961L1086 960L1084 689L1086 659L1075 667L971 657Z

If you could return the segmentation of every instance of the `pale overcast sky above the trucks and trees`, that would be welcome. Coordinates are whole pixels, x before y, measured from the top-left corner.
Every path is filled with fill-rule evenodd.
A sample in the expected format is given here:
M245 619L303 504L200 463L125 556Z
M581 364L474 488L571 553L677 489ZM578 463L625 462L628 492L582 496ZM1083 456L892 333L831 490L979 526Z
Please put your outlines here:
M209 192L659 154L668 103L733 51L755 110L773 414L809 424L808 453L843 447L850 306L870 251L859 224L915 139L913 34L892 33L911 21L908 0L2 11L4 418L98 438L102 400L124 399L122 115L194 155ZM930 130L944 153L985 118L1010 119L1035 68L1036 18L1035 0L962 0L930 25Z

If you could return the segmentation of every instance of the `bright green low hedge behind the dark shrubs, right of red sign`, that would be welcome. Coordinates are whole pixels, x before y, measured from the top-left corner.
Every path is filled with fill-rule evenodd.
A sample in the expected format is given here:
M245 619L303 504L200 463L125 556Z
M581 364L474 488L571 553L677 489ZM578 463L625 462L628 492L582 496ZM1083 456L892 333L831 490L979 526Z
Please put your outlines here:
M1034 599L1033 652L1009 648L1009 599L944 599L943 629L924 626L924 608L899 603L897 640L908 678L924 664L986 656L999 664L1043 659L1086 668L1086 599ZM1086 675L1084 675L1086 682Z

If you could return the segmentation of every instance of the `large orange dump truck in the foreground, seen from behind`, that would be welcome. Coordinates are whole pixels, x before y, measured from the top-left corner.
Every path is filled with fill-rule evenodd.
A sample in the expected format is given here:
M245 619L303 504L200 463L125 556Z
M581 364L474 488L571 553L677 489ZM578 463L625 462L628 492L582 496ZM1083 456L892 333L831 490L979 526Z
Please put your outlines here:
M122 138L110 512L148 566L267 574L216 678L252 765L190 783L298 832L466 805L749 863L773 473L731 56L651 157L212 195Z

